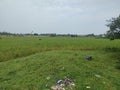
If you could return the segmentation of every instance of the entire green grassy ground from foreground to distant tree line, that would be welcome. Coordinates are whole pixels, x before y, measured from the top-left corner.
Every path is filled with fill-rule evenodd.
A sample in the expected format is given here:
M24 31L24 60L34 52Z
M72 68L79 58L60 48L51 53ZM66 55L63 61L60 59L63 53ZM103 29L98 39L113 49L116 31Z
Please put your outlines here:
M50 90L66 76L74 90L120 89L120 40L1 37L0 61L0 90Z

